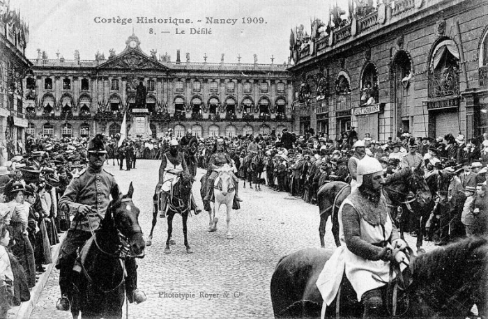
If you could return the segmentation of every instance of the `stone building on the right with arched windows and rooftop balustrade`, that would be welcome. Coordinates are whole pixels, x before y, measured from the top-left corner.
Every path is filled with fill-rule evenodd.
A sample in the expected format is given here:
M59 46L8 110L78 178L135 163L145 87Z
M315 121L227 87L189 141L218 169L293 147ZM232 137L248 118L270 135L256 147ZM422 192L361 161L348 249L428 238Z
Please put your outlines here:
M385 0L351 5L347 20L331 13L311 36L303 26L291 34L296 130L337 138L352 126L381 141L488 131L487 1Z

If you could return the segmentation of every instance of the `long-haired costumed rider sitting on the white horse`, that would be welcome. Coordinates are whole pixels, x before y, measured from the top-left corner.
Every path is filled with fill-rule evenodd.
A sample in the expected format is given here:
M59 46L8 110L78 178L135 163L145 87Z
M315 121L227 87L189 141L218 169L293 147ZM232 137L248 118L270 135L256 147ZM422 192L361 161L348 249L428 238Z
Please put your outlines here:
M223 166L224 164L232 165L232 160L227 151L225 150L225 142L224 139L219 138L215 141L215 146L213 149L213 154L208 161L208 169L207 169L207 180L205 183L205 194L204 201L210 201L213 196L213 182L215 178L218 176L217 169ZM230 172L232 178L234 179L234 185L236 186L236 201L242 201L238 194L239 194L239 187L238 187L238 178L234 175L233 172Z

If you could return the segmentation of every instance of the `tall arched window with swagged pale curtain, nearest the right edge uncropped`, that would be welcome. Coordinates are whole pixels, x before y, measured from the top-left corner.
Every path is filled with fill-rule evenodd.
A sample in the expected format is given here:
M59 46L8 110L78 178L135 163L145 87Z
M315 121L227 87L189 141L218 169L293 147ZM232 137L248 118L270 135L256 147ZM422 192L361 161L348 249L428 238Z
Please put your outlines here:
M429 98L459 95L459 52L452 40L443 40L429 61Z

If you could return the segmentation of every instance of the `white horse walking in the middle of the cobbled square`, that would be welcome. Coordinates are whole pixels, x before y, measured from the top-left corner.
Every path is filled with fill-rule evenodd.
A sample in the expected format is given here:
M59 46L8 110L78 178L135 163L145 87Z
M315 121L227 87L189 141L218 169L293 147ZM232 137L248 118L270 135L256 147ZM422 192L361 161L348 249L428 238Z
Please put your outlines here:
M219 175L215 178L213 182L213 194L215 197L215 203L211 204L211 210L208 212L209 227L208 231L213 232L217 231L217 222L219 221L218 212L220 210L220 205L224 204L227 207L227 239L232 239L234 236L231 234L231 229L229 223L231 221L231 210L232 210L232 203L234 203L234 196L236 196L236 188L234 186L234 180L232 179L231 174L229 173L234 168L229 166L228 164L224 164L220 169L218 169Z

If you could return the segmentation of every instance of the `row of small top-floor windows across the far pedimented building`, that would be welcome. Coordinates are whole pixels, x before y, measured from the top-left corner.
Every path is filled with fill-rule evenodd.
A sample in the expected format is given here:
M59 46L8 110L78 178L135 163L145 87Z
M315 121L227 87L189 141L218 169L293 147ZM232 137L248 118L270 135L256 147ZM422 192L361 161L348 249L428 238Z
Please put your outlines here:
M154 91L154 80L150 79L147 81L147 91ZM52 79L47 77L44 79L44 88L45 90L52 90ZM63 79L63 90L70 90L71 89L71 79ZM112 79L110 89L113 91L119 91L119 79ZM183 81L176 81L175 84L176 92L183 92ZM82 79L82 91L89 90L89 80ZM233 81L229 81L226 84L227 93L234 93L236 91L236 83ZM212 93L218 92L218 82L212 81L210 83L210 91ZM243 84L243 91L244 93L252 93L252 84L250 82L244 82ZM269 87L267 82L261 82L259 84L259 91L261 93L268 93ZM279 82L276 84L276 91L277 93L284 93L284 83ZM193 92L201 92L201 82L194 81L193 82Z

